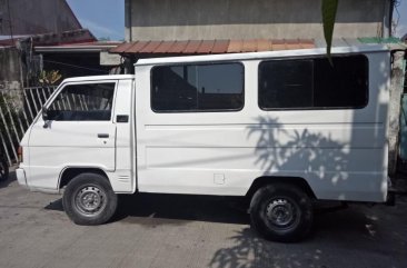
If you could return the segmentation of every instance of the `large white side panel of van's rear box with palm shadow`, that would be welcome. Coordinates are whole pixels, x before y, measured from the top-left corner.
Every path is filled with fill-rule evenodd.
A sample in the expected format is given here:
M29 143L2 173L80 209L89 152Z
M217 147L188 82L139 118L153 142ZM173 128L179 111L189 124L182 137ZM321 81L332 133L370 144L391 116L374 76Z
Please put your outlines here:
M364 109L284 111L258 107L260 60L245 59L241 111L153 112L146 86L161 59L151 66L141 61L136 64L139 190L242 196L256 178L299 177L319 199L384 201L389 80L380 70L389 69L389 58L387 52L367 57L370 91ZM168 61L200 59L190 58Z

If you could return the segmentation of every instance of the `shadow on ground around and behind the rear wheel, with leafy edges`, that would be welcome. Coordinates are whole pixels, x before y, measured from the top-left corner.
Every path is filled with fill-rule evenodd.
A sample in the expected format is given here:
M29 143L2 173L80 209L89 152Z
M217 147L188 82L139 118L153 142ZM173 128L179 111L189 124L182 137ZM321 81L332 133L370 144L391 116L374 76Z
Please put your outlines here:
M407 228L400 218L395 222L386 217L386 209L380 210L374 210L379 211L377 216L356 206L317 214L311 236L298 244L266 241L245 228L229 238L228 245L234 246L218 249L208 265L234 268L405 267Z

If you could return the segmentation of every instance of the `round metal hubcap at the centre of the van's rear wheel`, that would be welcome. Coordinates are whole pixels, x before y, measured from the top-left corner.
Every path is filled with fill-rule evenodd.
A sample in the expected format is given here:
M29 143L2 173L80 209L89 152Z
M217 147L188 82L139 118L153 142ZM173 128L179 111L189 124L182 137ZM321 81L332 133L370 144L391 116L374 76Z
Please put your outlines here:
M287 227L296 220L295 207L282 198L271 200L266 214L267 219L278 227Z

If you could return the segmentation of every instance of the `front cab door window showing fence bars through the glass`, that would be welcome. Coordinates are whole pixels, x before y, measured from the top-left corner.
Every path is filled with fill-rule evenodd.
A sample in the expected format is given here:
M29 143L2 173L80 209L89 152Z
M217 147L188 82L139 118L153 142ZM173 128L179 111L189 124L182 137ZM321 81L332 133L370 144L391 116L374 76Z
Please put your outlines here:
M56 121L109 121L115 82L69 85L48 108Z

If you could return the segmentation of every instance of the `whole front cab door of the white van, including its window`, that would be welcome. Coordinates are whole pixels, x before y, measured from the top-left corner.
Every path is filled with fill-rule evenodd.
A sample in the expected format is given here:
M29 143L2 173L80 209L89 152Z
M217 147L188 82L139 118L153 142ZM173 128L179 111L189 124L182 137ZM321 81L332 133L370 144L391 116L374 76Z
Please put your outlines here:
M38 118L29 139L29 186L57 189L66 167L115 170L117 81L68 83ZM43 120L46 119L46 120Z

